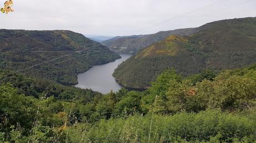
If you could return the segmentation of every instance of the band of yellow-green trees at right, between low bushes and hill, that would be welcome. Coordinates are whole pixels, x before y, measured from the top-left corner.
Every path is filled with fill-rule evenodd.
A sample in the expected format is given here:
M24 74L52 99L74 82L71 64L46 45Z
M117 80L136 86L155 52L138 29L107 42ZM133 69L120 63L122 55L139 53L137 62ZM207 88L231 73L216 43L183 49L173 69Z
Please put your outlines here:
M196 84L190 78L175 79L175 73L169 74L171 78L165 74L159 75L149 89L156 97L152 108L154 113L173 114L206 109L232 111L255 106L255 68L225 70L213 79L204 79Z

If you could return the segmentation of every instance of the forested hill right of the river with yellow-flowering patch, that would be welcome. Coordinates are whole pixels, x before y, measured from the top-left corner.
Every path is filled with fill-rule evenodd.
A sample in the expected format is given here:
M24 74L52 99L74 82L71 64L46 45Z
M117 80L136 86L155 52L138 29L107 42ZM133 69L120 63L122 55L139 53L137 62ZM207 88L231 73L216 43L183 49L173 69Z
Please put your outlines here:
M132 88L146 88L167 68L188 76L205 69L221 70L256 63L256 18L217 21L198 33L171 35L119 65L114 76Z

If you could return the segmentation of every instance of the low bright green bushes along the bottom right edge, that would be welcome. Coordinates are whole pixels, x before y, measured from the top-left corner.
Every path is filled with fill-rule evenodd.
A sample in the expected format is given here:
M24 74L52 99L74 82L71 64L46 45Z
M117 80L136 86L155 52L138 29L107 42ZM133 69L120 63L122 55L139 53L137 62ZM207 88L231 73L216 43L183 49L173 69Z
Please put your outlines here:
M135 115L101 120L93 126L77 124L67 135L73 142L148 142L149 133L150 142L253 142L255 123L245 116L209 110L173 116Z

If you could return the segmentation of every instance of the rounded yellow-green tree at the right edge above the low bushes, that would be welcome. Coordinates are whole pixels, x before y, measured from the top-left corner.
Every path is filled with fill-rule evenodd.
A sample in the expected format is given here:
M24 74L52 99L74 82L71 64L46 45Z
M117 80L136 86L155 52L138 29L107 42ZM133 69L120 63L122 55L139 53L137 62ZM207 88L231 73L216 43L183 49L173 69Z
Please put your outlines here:
M204 80L197 86L199 96L209 98L208 108L211 109L243 109L255 104L256 80L247 76L230 75L230 72L226 71L214 81Z

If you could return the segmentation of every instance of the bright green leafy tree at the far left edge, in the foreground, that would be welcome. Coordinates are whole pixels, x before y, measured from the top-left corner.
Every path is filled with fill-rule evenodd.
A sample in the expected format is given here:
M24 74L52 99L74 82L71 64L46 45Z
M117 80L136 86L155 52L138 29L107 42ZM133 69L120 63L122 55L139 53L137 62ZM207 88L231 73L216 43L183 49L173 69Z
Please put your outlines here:
M0 86L0 96L0 131L10 130L17 122L27 129L32 126L37 113L35 99L17 94L10 85Z

